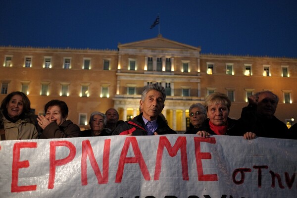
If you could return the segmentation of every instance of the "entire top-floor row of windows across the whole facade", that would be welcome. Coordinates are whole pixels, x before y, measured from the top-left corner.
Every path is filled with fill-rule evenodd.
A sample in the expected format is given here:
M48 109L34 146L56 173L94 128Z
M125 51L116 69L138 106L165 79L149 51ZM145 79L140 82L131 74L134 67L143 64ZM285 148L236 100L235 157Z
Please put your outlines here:
M172 65L172 59L173 58L162 58L162 57L146 57L145 61L145 71L174 71L174 67ZM213 63L207 63L207 70L206 73L209 75L212 75L214 73L214 64ZM12 66L12 56L5 56L5 61L3 64L4 67L11 67ZM32 67L32 57L26 56L24 61L24 67ZM46 56L44 58L44 68L51 68L51 57ZM245 64L245 71L244 75L251 76L252 70L251 64ZM282 65L282 77L290 77L288 72L288 65ZM70 69L71 68L71 58L64 58L63 61L63 69ZM89 70L91 69L91 59L90 58L84 58L83 60L83 69ZM103 60L103 70L109 70L110 69L110 59L104 59ZM129 58L129 67L128 70L136 71L137 70L137 59ZM183 60L182 61L182 68L181 71L184 73L190 72L190 61ZM227 63L226 64L226 74L227 75L234 75L234 68L233 63ZM263 65L263 76L271 76L270 73L270 65Z

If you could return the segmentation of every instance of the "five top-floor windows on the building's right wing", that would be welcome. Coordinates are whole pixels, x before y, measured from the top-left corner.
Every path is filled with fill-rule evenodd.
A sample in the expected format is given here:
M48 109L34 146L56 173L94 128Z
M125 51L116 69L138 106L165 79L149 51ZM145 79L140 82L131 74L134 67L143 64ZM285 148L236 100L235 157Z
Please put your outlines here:
M244 64L245 65L245 71L244 71L244 75L245 76L251 76L252 75L252 71L251 71L251 64ZM281 65L282 67L282 77L290 77L289 75L289 71L288 65ZM214 69L214 64L213 63L207 63L207 71L206 73L209 75L213 74L213 69ZM234 69L233 69L233 63L227 63L226 64L226 74L227 75L234 75ZM270 65L263 65L263 76L271 76L270 73Z

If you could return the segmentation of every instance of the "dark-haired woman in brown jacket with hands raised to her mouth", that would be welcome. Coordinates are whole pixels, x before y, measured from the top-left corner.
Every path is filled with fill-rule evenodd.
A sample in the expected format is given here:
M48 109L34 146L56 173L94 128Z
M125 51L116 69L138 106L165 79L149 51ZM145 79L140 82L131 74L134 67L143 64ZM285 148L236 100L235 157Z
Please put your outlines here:
M53 99L45 105L46 116L39 115L38 125L43 129L40 139L72 138L80 136L80 128L70 120L64 101Z

